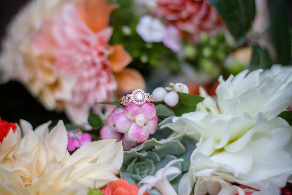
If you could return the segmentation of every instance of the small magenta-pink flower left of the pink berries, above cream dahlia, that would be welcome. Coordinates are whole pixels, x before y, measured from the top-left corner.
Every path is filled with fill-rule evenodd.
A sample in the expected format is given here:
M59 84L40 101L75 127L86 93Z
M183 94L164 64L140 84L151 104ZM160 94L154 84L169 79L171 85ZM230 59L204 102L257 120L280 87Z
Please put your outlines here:
M76 148L91 142L91 135L89 133L82 133L80 129L67 131L68 134L68 151L74 151Z

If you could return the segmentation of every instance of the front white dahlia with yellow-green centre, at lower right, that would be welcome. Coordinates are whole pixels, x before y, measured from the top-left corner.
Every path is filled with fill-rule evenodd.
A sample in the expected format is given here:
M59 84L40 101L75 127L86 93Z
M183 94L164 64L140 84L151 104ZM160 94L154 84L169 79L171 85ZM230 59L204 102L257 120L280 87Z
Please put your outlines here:
M232 116L197 111L168 125L200 140L191 155L188 194L198 179L200 183L210 182L214 176L251 186L263 195L279 192L292 170L292 129L280 117L267 121L258 113L255 118L247 113ZM195 190L202 186L198 183ZM220 188L212 186L218 192Z

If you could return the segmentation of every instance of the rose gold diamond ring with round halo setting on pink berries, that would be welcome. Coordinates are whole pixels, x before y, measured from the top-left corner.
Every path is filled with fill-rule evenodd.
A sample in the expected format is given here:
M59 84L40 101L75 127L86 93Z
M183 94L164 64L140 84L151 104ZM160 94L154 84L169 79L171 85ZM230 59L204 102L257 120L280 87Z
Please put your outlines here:
M148 102L154 101L153 96L150 95L149 93L146 93L142 89L136 89L131 94L127 94L127 96L123 96L120 99L120 104L127 104L127 103L133 102L134 104L142 105L146 101Z

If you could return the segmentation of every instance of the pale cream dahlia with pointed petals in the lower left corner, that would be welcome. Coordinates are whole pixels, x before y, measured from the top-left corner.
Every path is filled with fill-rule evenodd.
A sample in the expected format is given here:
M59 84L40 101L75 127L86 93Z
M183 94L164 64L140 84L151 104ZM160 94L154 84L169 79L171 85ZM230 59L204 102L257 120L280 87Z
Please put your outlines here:
M30 125L24 122L23 126ZM5 139L11 137L8 134ZM29 127L14 145L2 145L0 194L86 194L88 187L100 188L117 179L115 174L123 161L121 142L115 143L115 139L91 142L71 156L67 142L67 131L59 121L44 143Z

